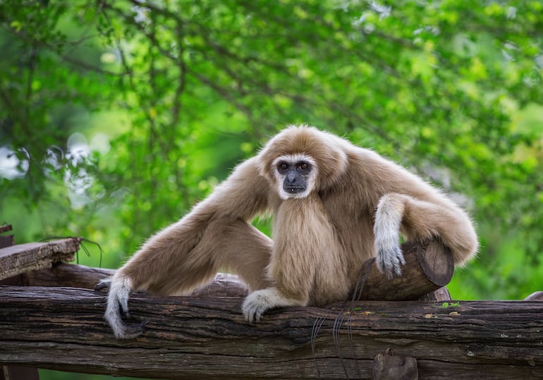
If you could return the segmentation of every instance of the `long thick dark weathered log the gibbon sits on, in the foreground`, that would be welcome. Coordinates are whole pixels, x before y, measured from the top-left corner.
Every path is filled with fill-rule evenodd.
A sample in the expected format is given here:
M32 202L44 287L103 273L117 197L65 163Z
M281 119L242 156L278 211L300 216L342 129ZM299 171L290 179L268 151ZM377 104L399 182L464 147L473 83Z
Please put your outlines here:
M118 341L102 317L104 292L0 286L0 364L161 379L353 379L370 377L375 355L391 348L417 360L421 379L543 378L541 301L288 307L251 325L242 300L133 295L147 331Z

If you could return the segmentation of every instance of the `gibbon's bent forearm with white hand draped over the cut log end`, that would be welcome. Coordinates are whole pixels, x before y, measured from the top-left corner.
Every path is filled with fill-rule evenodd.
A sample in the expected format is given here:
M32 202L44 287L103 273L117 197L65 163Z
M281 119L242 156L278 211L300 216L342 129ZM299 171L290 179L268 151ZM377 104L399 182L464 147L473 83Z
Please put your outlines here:
M389 193L379 200L374 223L377 266L389 277L401 276L401 264L405 264L399 245L400 229L408 240L439 237L451 250L457 265L477 253L472 222L451 200L443 197L429 202Z

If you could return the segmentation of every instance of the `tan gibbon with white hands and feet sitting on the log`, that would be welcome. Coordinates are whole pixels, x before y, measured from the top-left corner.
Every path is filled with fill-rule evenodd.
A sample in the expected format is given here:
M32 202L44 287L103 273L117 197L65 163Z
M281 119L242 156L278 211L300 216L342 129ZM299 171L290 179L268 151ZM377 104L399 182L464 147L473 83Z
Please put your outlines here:
M250 224L265 212L271 239ZM477 251L470 217L441 191L370 149L290 126L99 284L109 286L105 319L117 338L138 336L142 326L122 319L131 293L188 295L220 269L248 287L249 322L274 307L346 300L371 257L401 276L401 234L439 238L458 265Z

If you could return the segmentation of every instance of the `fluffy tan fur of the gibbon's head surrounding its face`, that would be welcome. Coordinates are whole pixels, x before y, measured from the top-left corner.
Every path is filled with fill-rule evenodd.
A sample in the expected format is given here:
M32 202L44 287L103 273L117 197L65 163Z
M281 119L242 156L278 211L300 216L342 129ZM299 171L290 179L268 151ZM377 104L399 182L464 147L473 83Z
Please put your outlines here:
M315 188L324 190L334 185L346 171L349 147L349 142L331 133L307 125L291 125L264 145L257 164L260 174L269 183L275 183L274 161L277 158L295 154L309 156L316 164Z

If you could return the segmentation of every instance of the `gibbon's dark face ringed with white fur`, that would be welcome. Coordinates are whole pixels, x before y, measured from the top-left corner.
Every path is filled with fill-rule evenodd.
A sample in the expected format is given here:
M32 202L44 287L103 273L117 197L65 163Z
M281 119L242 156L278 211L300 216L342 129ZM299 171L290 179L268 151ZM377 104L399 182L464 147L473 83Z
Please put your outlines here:
M283 200L305 198L315 186L317 165L305 154L288 154L275 159L274 170L277 190Z

